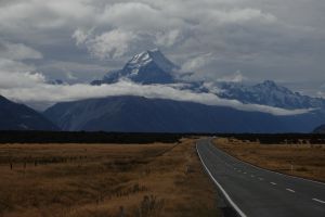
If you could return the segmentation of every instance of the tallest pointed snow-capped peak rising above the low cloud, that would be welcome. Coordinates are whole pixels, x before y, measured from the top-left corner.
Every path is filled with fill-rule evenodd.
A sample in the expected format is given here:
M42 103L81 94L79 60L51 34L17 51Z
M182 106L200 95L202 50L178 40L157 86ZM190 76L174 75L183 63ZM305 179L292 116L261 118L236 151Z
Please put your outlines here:
M179 66L154 49L134 55L122 69L109 72L103 79L92 81L92 85L113 84L120 79L144 85L172 84L176 82L173 72L177 69Z

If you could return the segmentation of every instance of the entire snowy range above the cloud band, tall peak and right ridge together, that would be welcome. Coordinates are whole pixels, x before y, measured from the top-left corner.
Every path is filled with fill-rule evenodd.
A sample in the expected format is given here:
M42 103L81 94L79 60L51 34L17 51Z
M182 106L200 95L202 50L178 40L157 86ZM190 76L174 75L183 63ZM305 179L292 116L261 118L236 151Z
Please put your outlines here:
M287 110L325 108L325 100L311 98L278 86L272 80L257 85L243 82L188 81L176 73L180 67L169 61L158 49L134 55L122 69L107 73L103 79L92 85L114 84L128 79L143 85L179 84L180 89L194 92L213 93L223 99L237 100L246 104L261 104Z

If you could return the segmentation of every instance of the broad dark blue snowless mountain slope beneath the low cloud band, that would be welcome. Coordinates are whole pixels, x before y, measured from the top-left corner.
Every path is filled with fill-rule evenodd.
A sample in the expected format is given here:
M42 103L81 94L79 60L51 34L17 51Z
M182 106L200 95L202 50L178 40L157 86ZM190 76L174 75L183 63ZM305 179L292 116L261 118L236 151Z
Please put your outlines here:
M138 132L303 132L325 120L317 114L273 116L142 97L57 103L44 115L64 130Z

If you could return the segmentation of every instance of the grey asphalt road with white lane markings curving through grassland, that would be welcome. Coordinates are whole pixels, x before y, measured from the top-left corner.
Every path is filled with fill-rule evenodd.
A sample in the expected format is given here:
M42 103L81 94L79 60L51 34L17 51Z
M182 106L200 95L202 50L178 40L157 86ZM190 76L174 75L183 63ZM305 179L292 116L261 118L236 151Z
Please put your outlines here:
M261 169L197 142L207 173L239 216L325 217L325 184Z

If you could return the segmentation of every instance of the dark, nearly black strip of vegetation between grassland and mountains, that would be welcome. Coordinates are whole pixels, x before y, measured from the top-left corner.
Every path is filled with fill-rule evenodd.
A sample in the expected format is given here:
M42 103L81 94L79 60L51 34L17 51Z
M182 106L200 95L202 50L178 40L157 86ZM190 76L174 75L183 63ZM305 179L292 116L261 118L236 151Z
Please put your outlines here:
M87 131L0 131L0 143L153 143L179 142L184 137L224 137L259 141L262 144L325 143L320 133L145 133L145 132L87 132Z

